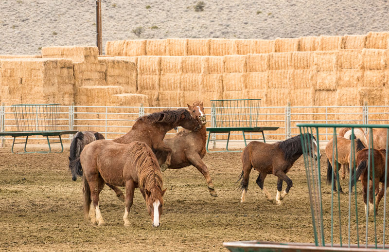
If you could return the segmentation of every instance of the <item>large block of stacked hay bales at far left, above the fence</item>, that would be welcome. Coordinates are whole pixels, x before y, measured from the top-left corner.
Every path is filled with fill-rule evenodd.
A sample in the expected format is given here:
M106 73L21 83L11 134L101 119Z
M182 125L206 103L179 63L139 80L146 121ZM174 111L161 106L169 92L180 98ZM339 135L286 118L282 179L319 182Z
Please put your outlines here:
M74 102L72 66L68 59L1 59L1 102L71 105Z

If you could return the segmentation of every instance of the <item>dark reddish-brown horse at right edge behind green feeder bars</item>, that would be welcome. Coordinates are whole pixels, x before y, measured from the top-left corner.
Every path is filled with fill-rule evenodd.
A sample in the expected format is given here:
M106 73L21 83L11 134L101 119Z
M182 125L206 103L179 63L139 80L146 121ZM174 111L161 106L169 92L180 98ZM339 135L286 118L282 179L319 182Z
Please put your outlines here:
M386 130L386 129L385 129ZM375 192L379 189L379 182L381 182L381 190L378 193L377 200L375 202L375 212L378 210L378 204L381 201L381 198L385 193L385 176L387 180L389 179L389 169L387 174L385 174L385 160L386 160L386 149L370 149L371 155L374 156L374 187ZM373 178L373 158L371 156L370 161L370 178L368 178L368 162L369 162L369 149L361 150L356 156L356 162L358 163L358 168L356 169L355 175L351 180L351 186L355 184L357 178L361 178L362 190L363 190L363 201L365 203L365 213L367 212L367 181L372 180ZM389 183L387 183L388 186ZM374 201L373 201L373 183L370 183L369 186L369 215L373 215L374 210Z

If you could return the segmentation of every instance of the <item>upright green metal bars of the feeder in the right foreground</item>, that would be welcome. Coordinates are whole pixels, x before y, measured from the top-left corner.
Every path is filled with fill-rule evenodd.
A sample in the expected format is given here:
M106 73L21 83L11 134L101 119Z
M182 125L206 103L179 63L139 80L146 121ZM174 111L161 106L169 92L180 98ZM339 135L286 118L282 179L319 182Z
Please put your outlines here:
M375 249L385 249L389 125L298 124L297 126L300 127L301 133L316 246L333 247L339 244L340 247L346 248L372 246ZM351 143L350 147L338 143L338 141L345 143L342 138L337 138L337 129L341 127L348 127L351 130L351 139L348 140ZM364 144L364 148L357 148L358 141L354 134L356 128L367 130L368 146ZM311 146L314 141L317 141L319 145L319 132L328 130L332 131L333 139L327 144L326 154L322 155L320 162L313 158L314 148ZM381 142L377 142L377 139ZM374 146L375 141L376 145L381 143L381 146ZM350 176L346 182L340 182L339 158L343 155L340 153L345 152L349 153ZM332 161L331 166L329 165L330 160ZM367 165L364 165L363 162L366 164L366 161ZM325 162L327 162L327 181L330 179L331 185L325 185L321 180L321 177L325 175L325 169L322 169ZM329 169L330 167L332 170ZM362 186L357 181L357 176L352 176L357 171L362 171ZM363 176L367 179L363 179ZM379 203L379 201L376 202L374 195L376 182L381 183L381 190L377 196L377 201L383 197L381 208L376 208L376 203ZM349 191L343 194L340 192L340 186L345 185L348 185ZM336 187L337 191L334 189ZM363 188L366 189L361 194ZM363 200L365 195L366 203ZM371 197L372 202L369 200ZM377 214L377 211L381 214Z

